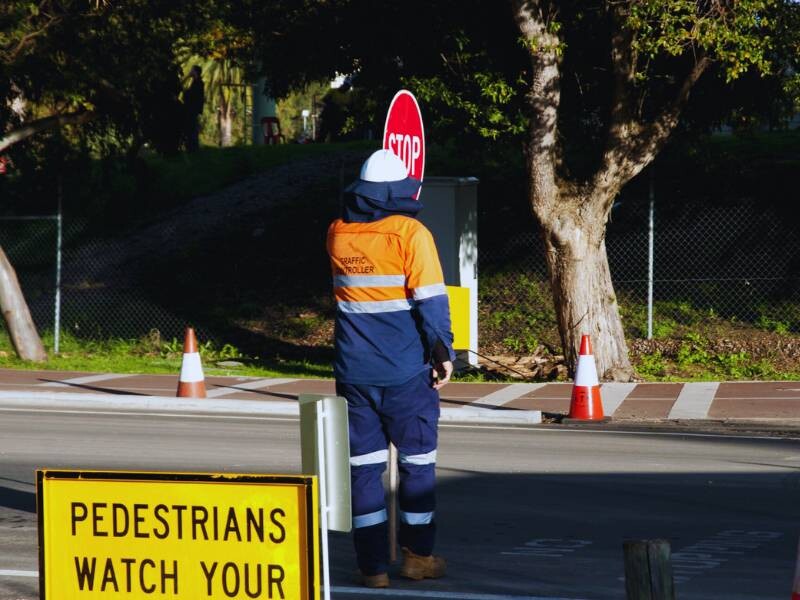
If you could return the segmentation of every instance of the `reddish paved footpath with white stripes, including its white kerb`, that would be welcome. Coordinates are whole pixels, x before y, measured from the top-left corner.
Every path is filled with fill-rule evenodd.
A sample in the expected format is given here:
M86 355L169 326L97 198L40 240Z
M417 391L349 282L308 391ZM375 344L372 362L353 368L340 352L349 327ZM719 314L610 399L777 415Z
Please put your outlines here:
M300 394L334 394L331 380L206 377L208 397L175 398L177 375L0 369L0 405L298 414ZM569 413L571 383L450 383L442 420L536 424ZM606 383L613 422L762 421L800 425L800 382Z

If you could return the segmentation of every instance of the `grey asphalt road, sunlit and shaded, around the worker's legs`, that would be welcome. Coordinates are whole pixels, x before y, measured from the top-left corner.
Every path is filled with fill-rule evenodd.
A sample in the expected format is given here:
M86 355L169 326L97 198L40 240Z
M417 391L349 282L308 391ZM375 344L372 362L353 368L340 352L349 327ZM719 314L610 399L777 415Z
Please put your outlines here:
M297 473L294 419L0 409L0 598L38 597L34 470ZM443 426L444 579L369 597L625 597L622 541L666 538L681 600L788 598L800 441ZM363 598L331 535L334 598Z

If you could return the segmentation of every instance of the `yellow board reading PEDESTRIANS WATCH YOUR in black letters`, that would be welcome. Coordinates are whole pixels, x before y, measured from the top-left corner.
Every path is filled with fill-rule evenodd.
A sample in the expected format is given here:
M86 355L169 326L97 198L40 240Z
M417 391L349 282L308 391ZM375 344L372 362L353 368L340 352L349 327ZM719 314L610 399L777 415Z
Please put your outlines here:
M317 480L37 471L41 598L320 597Z

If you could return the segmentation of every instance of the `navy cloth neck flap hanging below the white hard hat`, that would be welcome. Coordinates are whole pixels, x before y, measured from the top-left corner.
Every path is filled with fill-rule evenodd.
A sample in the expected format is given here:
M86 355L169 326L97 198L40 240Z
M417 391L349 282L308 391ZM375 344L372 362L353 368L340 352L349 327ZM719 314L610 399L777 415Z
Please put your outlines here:
M342 218L347 223L370 223L391 215L415 217L422 210L422 203L412 196L421 185L413 177L382 182L357 179L344 190Z

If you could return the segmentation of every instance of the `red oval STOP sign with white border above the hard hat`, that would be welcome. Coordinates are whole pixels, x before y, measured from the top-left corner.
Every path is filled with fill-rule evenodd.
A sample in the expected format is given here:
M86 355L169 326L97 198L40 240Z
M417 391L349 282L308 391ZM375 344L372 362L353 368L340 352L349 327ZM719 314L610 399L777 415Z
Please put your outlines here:
M425 128L414 94L400 90L394 95L383 128L383 148L405 163L408 175L422 181L425 173Z

